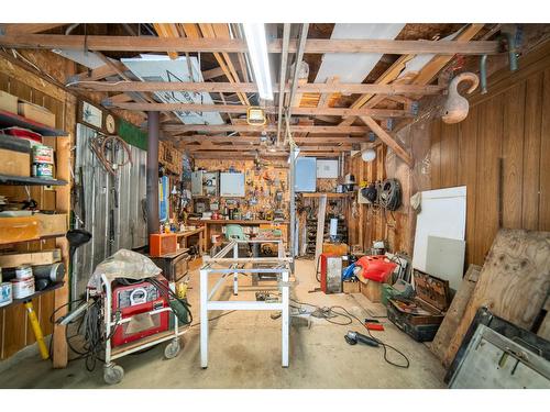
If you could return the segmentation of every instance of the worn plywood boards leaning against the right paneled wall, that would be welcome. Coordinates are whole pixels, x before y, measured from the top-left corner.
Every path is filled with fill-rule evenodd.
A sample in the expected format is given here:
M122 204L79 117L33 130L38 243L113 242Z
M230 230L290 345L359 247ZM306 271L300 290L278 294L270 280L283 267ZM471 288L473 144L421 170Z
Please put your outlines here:
M550 319L540 322L550 290L550 232L501 230L479 276L470 266L460 290L431 344L449 367L477 309L548 338ZM475 281L475 279L477 280Z

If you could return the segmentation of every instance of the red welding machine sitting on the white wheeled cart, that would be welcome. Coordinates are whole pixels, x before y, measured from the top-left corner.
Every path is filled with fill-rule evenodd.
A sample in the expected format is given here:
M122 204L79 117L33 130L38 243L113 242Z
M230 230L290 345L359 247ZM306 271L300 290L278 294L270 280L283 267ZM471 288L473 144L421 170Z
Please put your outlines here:
M165 279L161 280L168 287ZM168 307L168 294L166 290L158 288L148 281L134 285L120 285L112 290L112 311L120 312L122 321L130 321L117 326L112 336L112 346L120 346L142 337L154 335L168 330L169 311L148 314L162 308Z

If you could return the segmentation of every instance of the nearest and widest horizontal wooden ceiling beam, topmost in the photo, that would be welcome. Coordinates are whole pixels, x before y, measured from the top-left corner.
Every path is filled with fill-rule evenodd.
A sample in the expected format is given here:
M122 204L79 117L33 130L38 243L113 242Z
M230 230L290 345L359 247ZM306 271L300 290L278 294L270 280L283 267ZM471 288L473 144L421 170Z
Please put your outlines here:
M189 52L189 53L246 53L244 40L240 38L161 38L156 36L84 36L61 34L4 34L0 45L14 48L65 48L110 52ZM297 41L290 41L288 52L296 53ZM270 53L280 53L282 40L268 42ZM499 53L498 42L408 41L408 40L358 40L358 38L309 38L306 54L324 53L377 53L377 54L438 54L453 56L494 55Z

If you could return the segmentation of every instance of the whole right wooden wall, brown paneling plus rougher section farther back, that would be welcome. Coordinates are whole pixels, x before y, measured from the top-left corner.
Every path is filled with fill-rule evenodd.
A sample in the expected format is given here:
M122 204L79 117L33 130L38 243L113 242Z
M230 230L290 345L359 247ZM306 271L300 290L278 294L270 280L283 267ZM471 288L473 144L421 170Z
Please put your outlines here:
M441 99L425 102L426 119L398 136L415 156L415 167L403 172L400 160L365 164L352 158L358 181L397 177L404 203L394 220L358 205L350 224L351 244L370 247L385 238L393 252L411 254L416 213L408 197L416 191L466 186L466 265L483 265L498 227L550 231L550 42L519 59L519 70L507 67L488 78L488 93L470 100L468 118L441 122ZM395 156L394 156L395 159ZM383 174L377 169L384 168ZM388 220L389 225L388 225Z

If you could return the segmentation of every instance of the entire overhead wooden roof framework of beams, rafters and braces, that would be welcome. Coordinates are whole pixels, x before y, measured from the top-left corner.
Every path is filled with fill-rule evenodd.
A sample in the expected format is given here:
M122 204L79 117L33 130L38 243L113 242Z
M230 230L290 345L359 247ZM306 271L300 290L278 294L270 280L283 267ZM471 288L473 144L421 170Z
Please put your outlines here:
M254 156L262 151L265 156L280 156L266 152L264 143L260 143L260 133L277 133L277 122L280 127L282 110L279 107L265 107L268 114L268 124L251 126L242 124L242 119L231 113L244 114L250 108L248 93L257 92L257 87L249 79L244 54L248 53L246 43L234 35L234 25L210 23L162 23L154 24L157 36L105 36L105 35L59 35L40 34L40 32L63 24L0 24L0 46L13 48L38 49L75 49L98 53L106 62L105 66L94 70L86 70L67 79L67 86L79 91L119 93L103 100L103 105L132 110L138 112L162 111L169 123L163 123L165 136L174 138L178 144L187 144L196 156L222 155L227 152L239 152L243 156ZM386 129L385 122L380 124L375 119L403 119L406 123L414 116L413 102L422 96L440 94L446 85L430 85L437 75L451 62L454 55L494 55L501 52L501 45L484 37L473 41L484 24L470 24L452 41L410 41L410 40L336 40L307 38L299 47L299 40L284 42L275 38L268 42L268 53L282 55L305 53L376 53L402 55L375 82L371 83L341 83L338 78L329 79L324 83L308 83L307 79L296 85L294 93L297 98L288 102L293 116L309 116L330 122L337 125L322 126L310 123L305 118L298 118L298 124L290 124L289 131L294 141L304 147L302 153L315 153L316 156L333 156L343 149L351 149L359 143L367 141L367 134L374 132L389 146L405 163L413 166L414 162L405 147ZM287 27L288 29L288 27ZM289 32L289 31L288 31ZM108 59L100 52L162 52L168 53L172 58L179 54L189 57L189 53L212 53L219 67L202 71L201 81L193 82L148 82L133 81L128 77L127 67L118 60ZM233 58L230 56L232 55ZM418 73L403 76L408 60L420 54L432 54L433 58ZM237 58L235 58L237 57ZM286 62L285 62L286 63ZM286 64L284 65L286 69ZM283 70L283 66L282 66ZM223 81L208 81L224 77ZM105 81L103 79L121 78L122 81ZM274 90L284 97L289 97L292 85L286 79L280 85L273 85ZM219 93L223 104L190 104L190 103L160 103L155 101L154 92L187 91ZM233 99L223 96L233 94ZM288 94L287 94L288 93ZM348 108L330 107L332 94L359 94L359 98ZM318 97L316 107L300 107L300 96ZM380 109L378 104L387 99L397 102L398 109ZM232 100L232 101L231 101ZM238 101L240 104L228 104ZM395 104L393 105L395 108ZM227 113L229 124L196 125L173 123L173 111L220 112ZM340 120L338 119L340 118ZM293 118L295 120L296 118ZM353 125L360 119L363 124ZM193 134L188 133L205 133ZM234 136L223 133L240 134ZM308 135L309 134L309 135ZM327 144L333 145L326 146ZM330 147L330 148L329 148ZM207 154L205 154L207 153Z

